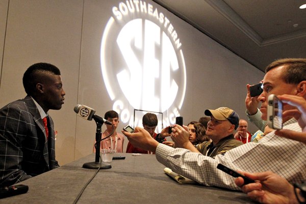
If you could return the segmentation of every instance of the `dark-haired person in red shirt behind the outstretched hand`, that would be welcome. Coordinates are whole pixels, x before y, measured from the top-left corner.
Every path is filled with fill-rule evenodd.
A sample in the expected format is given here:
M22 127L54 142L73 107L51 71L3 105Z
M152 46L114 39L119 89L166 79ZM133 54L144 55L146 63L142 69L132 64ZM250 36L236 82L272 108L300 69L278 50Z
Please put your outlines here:
M166 139L162 136L161 138L159 138L160 134L155 133L157 124L158 124L158 119L157 119L156 114L146 113L143 115L142 125L143 125L144 130L146 130L152 138L162 143L163 141L166 141ZM155 152L134 147L130 142L127 144L126 153L155 154Z

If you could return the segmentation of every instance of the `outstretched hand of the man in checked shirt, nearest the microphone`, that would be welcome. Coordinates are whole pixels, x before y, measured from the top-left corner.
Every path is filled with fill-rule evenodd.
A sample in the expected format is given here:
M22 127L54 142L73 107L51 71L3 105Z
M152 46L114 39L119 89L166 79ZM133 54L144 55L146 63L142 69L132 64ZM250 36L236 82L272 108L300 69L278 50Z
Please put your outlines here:
M135 147L139 147L152 152L156 151L159 144L158 141L153 139L150 134L141 127L136 127L134 133L129 133L122 130L122 133Z

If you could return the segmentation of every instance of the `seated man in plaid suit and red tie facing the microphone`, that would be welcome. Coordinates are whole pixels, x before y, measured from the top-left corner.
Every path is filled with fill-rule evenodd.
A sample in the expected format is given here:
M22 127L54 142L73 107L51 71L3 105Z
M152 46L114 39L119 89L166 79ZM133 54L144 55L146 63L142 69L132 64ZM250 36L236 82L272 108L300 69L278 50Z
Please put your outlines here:
M33 64L22 79L27 96L0 109L0 187L59 166L48 111L64 104L60 74L52 64Z

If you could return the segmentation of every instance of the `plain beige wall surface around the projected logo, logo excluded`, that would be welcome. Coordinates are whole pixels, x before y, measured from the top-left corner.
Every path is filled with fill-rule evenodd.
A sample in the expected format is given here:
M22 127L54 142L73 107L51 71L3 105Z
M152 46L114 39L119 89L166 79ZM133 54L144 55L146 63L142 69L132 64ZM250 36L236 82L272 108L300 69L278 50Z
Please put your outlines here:
M183 43L187 69L186 97L181 110L184 123L197 120L205 109L221 106L231 107L241 118L246 118L245 85L259 82L264 73L167 10L149 0L146 2L175 23ZM58 66L66 91L65 104L60 111L50 111L50 115L58 131L56 151L60 164L89 155L93 149L96 125L77 117L74 106L84 104L95 108L100 116L112 109L99 57L101 35L112 6L118 3L108 0L0 2L0 59L4 52L0 106L25 96L21 79L27 67L36 62ZM119 124L119 131L123 125ZM255 130L253 126L251 129Z

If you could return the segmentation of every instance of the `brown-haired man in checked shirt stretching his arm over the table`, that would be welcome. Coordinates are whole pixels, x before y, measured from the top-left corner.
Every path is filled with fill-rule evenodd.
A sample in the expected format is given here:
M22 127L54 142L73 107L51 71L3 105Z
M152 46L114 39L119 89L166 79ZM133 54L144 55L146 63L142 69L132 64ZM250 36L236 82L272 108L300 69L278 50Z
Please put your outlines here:
M258 97L262 102L260 111L262 119L267 117L267 99L269 94L289 94L306 98L306 59L283 59L270 64L263 80L263 93ZM294 110L284 104L284 110ZM283 129L301 132L297 121L290 117L283 118ZM172 138L180 139L188 136L187 127L175 125ZM289 182L306 180L306 146L305 144L275 135L275 131L267 134L258 143L247 143L217 155L215 159L191 152L183 148L172 148L151 139L140 127L133 134L125 132L129 141L143 149L156 152L157 160L200 184L239 190L234 177L217 169L217 164L247 172L272 171ZM254 155L258 155L256 159Z

